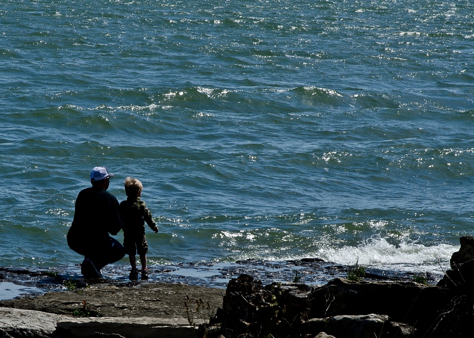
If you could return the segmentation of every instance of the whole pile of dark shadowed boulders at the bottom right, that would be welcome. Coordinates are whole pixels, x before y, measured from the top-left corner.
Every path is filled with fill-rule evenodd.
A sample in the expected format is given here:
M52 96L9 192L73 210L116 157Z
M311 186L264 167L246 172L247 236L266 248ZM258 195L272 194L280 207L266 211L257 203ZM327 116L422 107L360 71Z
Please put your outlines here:
M335 278L320 287L263 286L241 275L197 337L473 337L474 238L460 243L437 285Z

